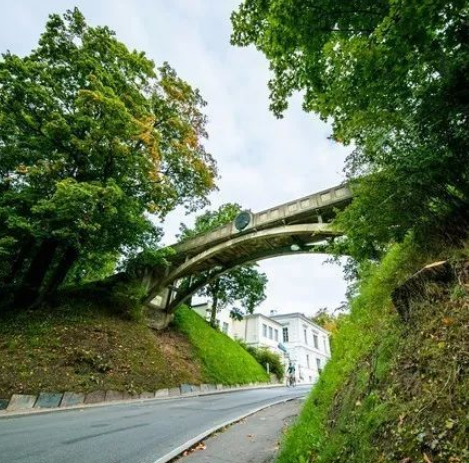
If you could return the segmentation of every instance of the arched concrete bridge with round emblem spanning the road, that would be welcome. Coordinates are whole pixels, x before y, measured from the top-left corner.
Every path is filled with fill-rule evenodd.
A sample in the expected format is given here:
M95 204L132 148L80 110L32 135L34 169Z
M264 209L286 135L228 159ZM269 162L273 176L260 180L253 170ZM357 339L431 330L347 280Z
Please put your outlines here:
M336 210L351 199L348 186L338 185L258 213L241 212L232 223L172 245L169 267L148 269L144 275L147 304L170 316L203 286L237 266L324 251L330 239L342 234L331 226ZM183 279L185 284L178 285Z

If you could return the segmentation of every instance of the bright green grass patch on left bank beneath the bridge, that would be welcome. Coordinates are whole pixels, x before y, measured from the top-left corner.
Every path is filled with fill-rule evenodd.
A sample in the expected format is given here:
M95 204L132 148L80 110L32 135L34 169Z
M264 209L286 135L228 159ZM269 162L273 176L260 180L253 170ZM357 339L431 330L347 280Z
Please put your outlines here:
M243 347L211 328L188 308L176 312L174 326L193 345L207 382L247 384L269 380L265 370Z

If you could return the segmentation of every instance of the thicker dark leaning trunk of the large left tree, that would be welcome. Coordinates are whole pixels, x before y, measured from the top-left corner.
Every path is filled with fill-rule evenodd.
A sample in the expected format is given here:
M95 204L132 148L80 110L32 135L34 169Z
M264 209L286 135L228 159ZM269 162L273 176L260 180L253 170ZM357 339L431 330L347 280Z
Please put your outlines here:
M16 291L15 306L30 306L37 300L44 278L54 261L57 245L57 241L51 239L44 240L39 245Z

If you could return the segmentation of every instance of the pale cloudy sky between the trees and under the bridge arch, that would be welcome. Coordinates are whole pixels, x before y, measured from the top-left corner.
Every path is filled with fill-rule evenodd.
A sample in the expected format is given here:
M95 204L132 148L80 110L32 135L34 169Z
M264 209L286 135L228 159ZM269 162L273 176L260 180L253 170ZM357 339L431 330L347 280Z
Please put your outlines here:
M221 179L211 202L237 202L256 212L340 183L348 149L328 140L330 127L294 98L284 119L268 110L268 63L253 48L229 43L230 13L240 0L0 0L0 51L27 54L49 13L78 6L92 25L108 25L130 48L157 65L168 61L208 102L207 150ZM165 225L171 243L176 211ZM341 269L325 256L292 256L260 263L269 278L260 307L313 314L344 299Z

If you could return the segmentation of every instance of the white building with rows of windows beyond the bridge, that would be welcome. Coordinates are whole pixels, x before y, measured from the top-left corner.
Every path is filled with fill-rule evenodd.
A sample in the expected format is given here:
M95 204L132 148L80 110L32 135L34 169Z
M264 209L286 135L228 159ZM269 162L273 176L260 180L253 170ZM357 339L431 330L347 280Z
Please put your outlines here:
M210 320L208 304L194 305L192 309ZM315 383L331 356L329 332L302 313L272 311L270 316L256 313L238 321L230 317L229 309L222 309L217 314L217 322L220 330L231 338L279 354L285 369L293 363L298 384Z

